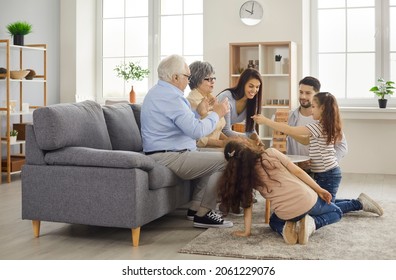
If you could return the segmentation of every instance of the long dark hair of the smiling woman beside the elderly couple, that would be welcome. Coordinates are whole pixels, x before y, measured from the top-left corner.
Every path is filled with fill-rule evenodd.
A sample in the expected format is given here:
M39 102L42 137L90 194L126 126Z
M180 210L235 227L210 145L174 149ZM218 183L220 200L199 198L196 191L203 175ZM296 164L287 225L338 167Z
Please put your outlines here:
M239 100L245 96L245 85L251 79L259 80L260 87L256 96L253 99L248 99L246 103L246 131L253 131L254 121L251 117L261 113L263 81L261 79L260 73L253 68L247 68L245 69L245 71L242 72L236 86L227 88L222 91L224 92L226 90L229 90L232 93L232 97L235 100Z

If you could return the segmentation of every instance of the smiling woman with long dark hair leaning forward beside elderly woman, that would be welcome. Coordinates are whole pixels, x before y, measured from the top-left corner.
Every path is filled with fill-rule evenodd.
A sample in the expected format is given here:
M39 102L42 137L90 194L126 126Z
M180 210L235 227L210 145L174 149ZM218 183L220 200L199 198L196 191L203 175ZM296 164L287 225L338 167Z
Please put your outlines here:
M226 136L247 136L261 145L252 116L261 112L262 85L260 73L248 68L242 72L235 87L225 89L217 96L219 101L228 98L230 104L230 112L224 116L226 125L223 132ZM241 122L245 122L244 134L232 130L233 124Z

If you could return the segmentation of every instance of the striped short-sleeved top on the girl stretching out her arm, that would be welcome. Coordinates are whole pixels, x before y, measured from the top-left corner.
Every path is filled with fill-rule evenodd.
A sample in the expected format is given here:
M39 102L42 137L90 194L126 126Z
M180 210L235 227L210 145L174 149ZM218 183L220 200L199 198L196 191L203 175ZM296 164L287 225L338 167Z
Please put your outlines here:
M320 123L310 123L306 127L311 132L309 137L309 157L312 172L326 172L338 166L334 144L326 144L326 135Z

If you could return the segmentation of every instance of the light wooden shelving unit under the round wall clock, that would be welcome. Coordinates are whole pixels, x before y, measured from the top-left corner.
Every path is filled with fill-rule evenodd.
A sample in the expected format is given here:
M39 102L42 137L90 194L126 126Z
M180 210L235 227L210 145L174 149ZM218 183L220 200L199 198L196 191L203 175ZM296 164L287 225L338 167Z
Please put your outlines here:
M230 86L234 86L250 60L263 80L262 114L273 118L278 109L297 106L297 47L292 41L230 43ZM275 55L281 55L280 70ZM260 126L259 134L266 147L273 139L272 129Z

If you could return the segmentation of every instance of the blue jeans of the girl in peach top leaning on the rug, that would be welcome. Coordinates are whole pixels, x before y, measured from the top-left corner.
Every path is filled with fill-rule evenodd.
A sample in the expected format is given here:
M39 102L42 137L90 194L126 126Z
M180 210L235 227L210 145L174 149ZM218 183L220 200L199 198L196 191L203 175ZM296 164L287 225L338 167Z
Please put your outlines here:
M339 220L341 220L342 211L333 202L327 204L326 201L322 200L318 196L318 200L316 201L315 205L311 208L311 210L309 210L307 213L303 215L291 219L290 221L297 222L301 220L305 215L310 215L315 221L316 229L319 229L321 227L336 223ZM273 231L282 235L282 231L285 223L286 223L285 220L280 219L278 216L276 216L275 213L272 213L269 226Z

